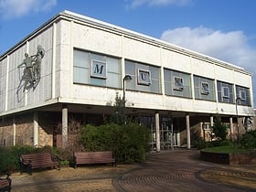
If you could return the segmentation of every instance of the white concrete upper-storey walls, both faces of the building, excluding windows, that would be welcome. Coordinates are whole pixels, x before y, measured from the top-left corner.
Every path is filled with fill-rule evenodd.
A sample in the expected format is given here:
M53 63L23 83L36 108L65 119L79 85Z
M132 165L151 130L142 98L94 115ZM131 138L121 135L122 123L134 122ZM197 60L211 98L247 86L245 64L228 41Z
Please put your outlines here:
M122 60L132 59L155 65L160 67L161 71L164 68L174 69L212 80L222 80L248 87L252 91L251 75L245 71L225 67L213 59L196 57L195 53L189 55L188 51L186 54L182 54L180 49L175 50L174 47L166 46L167 44L161 41L147 40L146 37L139 37L137 34L131 36L125 30L124 32L119 29L112 30L110 27L93 26L91 23L77 22L76 19L56 20L28 37L27 41L17 49L7 53L6 57L0 61L0 112L5 113L14 109L23 110L24 107L33 108L56 98L60 98L61 101L105 106L114 101L117 91L122 94L122 88L109 89L73 84L73 48L99 52ZM41 80L35 91L19 91L20 100L17 100L16 88L19 76L16 67L22 62L26 52L29 55L37 52L37 45L41 45L46 50L42 60ZM5 71L8 73L5 74ZM162 85L162 90L164 91L164 85ZM251 100L252 98L251 93ZM235 104L165 96L164 92L163 94L152 94L127 91L126 99L127 106L142 109L233 115L235 112ZM253 114L252 109L253 107L239 106L239 111L246 115Z

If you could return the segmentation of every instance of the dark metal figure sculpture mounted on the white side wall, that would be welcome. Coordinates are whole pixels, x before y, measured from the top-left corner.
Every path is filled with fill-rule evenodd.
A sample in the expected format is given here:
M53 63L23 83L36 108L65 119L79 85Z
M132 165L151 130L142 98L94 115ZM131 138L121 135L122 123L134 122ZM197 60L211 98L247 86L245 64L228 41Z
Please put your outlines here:
M31 88L35 89L40 80L41 63L45 56L45 49L42 46L37 46L37 54L29 56L25 53L25 59L17 66L19 69L19 85L17 92L23 87L23 91ZM21 72L23 69L23 72Z

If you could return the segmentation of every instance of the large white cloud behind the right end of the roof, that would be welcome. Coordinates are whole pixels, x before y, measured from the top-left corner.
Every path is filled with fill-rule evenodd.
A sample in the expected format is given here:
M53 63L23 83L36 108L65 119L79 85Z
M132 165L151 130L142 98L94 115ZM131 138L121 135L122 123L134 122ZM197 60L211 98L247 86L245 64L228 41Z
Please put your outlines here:
M206 27L180 27L166 30L161 39L227 61L251 72L253 100L256 101L256 49L250 47L249 37L242 31L224 33Z

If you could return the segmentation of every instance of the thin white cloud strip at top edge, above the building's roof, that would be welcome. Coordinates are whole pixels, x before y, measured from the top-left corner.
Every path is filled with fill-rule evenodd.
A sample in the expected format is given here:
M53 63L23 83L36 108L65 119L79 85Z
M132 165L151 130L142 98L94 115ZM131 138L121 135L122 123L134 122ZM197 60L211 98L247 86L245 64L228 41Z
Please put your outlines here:
M164 6L164 5L187 5L191 0L132 0L129 7L136 8L141 5Z

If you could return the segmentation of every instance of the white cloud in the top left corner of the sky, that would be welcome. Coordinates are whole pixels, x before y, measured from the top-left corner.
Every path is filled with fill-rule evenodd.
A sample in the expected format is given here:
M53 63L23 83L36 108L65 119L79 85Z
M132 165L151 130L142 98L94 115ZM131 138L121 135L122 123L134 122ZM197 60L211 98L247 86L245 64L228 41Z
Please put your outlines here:
M0 16L5 19L26 16L47 11L57 4L57 0L0 0Z

